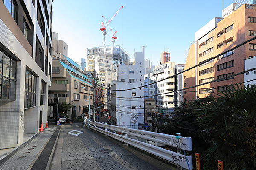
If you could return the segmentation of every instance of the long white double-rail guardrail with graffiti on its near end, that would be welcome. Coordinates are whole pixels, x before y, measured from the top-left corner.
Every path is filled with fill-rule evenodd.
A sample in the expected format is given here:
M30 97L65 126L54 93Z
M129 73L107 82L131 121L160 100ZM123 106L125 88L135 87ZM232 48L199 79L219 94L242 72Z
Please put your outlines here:
M84 122L84 127L88 127L88 119ZM170 150L163 149L145 142L141 142L132 138L128 138L128 135L137 136L139 138L151 140L161 144L166 144L171 147L180 148L182 150L192 150L191 137L182 137L175 135L167 135L163 133L150 132L145 130L131 129L127 127L120 127L114 125L107 125L106 123L92 122L90 121L90 128L110 136L114 139L124 142L125 144L130 144L131 146L137 147L162 159L170 161L177 164L187 170L193 168L192 156L185 156L180 153L176 153ZM105 128L105 129L102 129ZM108 130L113 130L116 132L124 133L125 136L110 132Z

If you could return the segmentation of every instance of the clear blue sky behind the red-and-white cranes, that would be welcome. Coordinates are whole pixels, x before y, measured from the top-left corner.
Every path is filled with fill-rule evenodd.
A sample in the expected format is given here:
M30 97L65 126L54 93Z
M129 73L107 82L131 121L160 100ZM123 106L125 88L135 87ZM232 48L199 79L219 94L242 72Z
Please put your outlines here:
M231 3L224 0L224 8ZM102 15L110 19L121 6L110 24L117 31L115 45L131 58L145 46L145 59L158 65L167 48L173 62L184 63L195 32L221 17L222 0L55 0L53 31L68 44L68 57L79 62L86 48L103 46ZM112 45L111 37L107 28L106 45Z

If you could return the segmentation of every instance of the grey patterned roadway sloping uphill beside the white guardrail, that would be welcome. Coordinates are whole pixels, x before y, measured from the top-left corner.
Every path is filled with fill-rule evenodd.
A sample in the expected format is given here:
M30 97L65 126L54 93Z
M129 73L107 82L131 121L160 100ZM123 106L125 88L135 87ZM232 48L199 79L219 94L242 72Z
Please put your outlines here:
M68 134L71 130L83 133ZM64 125L53 156L52 170L176 170L171 164L148 156L81 124Z

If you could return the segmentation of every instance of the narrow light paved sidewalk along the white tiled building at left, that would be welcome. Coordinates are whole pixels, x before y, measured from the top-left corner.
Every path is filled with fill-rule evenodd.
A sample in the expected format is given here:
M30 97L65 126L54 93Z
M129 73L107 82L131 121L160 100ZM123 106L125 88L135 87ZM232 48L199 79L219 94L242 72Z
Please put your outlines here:
M56 130L55 127L49 127L43 132L38 133L32 141L25 147L17 151L6 162L0 166L0 170L28 170L35 163L36 159L44 149L50 137Z

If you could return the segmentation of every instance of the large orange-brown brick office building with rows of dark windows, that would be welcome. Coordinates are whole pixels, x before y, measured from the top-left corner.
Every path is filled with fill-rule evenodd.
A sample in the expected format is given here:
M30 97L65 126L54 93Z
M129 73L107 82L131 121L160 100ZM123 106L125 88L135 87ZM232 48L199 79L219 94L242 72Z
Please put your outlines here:
M231 7L224 9L226 13L230 11L228 15L224 14L225 18L215 17L195 33L195 43L189 49L185 70L256 35L256 5L232 4ZM253 40L197 68L186 71L184 87L199 85L244 71L244 59L255 56L255 49L256 40ZM209 94L214 95L214 92L217 92L216 88L225 91L227 87L233 88L231 84L240 82L244 82L242 74L197 88L190 88L184 91L184 98L187 100L204 98Z

